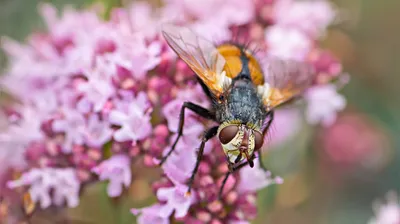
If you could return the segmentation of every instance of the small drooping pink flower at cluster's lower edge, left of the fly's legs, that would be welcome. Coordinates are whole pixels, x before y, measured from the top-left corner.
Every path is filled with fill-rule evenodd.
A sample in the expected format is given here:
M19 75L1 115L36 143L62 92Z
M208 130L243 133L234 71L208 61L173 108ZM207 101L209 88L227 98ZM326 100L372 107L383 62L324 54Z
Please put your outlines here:
M123 186L131 184L130 159L125 155L114 155L94 167L92 172L99 175L100 180L109 180L107 193L110 197L118 197L122 193Z

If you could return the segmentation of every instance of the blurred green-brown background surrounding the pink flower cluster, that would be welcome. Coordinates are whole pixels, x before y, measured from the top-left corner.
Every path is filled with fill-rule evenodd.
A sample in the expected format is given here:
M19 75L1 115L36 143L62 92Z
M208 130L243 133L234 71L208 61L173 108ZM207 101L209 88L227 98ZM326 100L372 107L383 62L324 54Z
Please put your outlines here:
M37 13L39 0L0 0L0 35L24 40L33 30L43 29ZM66 4L84 7L95 0L50 1L61 8ZM121 5L118 0L101 0L107 6ZM257 223L274 224L362 224L373 216L372 203L389 190L400 187L400 23L398 0L336 0L342 10L341 21L331 27L323 46L343 62L351 81L343 94L348 108L340 118L343 123L358 119L352 130L361 135L343 146L339 159L324 148L324 133L329 130L304 130L291 141L273 150L266 163L282 174L285 184L260 192ZM1 66L6 59L1 53ZM353 120L352 120L353 119ZM356 119L356 120L357 120ZM345 130L345 129L338 129ZM371 134L372 133L372 134ZM368 152L358 145L377 139ZM338 144L342 141L336 139ZM343 139L343 144L348 143ZM359 144L358 144L359 143ZM293 145L296 146L294 150ZM299 147L300 146L300 147ZM362 148L362 147L361 147ZM352 156L348 161L341 157ZM137 191L146 191L138 181ZM132 223L134 217L127 200L123 208L113 207L104 194L104 185L90 190L78 209L70 211L79 221L72 223ZM100 192L100 193L99 193ZM143 193L143 192L142 192ZM142 200L138 206L145 206ZM53 223L40 220L38 223Z

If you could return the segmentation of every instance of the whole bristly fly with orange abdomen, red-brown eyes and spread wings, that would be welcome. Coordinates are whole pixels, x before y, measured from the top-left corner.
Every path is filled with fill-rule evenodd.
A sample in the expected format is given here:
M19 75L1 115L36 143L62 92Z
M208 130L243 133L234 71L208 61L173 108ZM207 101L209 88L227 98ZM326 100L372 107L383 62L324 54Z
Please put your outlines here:
M221 142L230 170L225 181L231 172L247 164L253 167L255 152L263 146L264 136L274 119L274 109L309 87L314 72L305 63L273 58L267 60L263 71L254 54L240 45L214 46L190 29L173 25L164 26L162 33L169 46L197 75L212 108L206 109L191 102L183 104L178 136L161 164L175 150L183 133L185 109L219 123L208 129L201 140L188 183L190 193L204 146L215 136ZM261 155L258 153L260 166L266 170Z

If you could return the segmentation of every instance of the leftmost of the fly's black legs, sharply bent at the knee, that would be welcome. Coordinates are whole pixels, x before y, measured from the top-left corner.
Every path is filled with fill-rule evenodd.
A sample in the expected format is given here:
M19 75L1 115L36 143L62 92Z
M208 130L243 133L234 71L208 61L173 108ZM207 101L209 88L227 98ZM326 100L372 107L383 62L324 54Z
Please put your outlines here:
M204 118L207 118L207 119L210 119L210 120L215 120L215 115L211 111L209 111L209 110L207 110L207 109L205 109L205 108L203 108L203 107L201 107L199 105L191 103L191 102L183 103L183 105L181 107L181 112L179 114L178 136L176 137L175 142L172 145L171 149L161 159L160 165L162 165L167 160L167 158L171 155L171 153L175 150L176 144L178 143L179 138L182 136L183 125L184 125L184 122L185 122L185 108L188 108L189 110L193 111L194 113L196 113L196 114L198 114L198 115L200 115L200 116L202 116Z

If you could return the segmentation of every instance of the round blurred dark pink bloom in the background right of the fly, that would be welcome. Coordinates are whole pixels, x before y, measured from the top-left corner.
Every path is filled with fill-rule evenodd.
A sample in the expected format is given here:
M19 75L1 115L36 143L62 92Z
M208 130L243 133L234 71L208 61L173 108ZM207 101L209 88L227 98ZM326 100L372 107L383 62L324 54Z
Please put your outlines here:
M336 163L376 169L388 159L389 139L385 131L359 113L339 116L335 124L324 129L321 140L329 159Z

